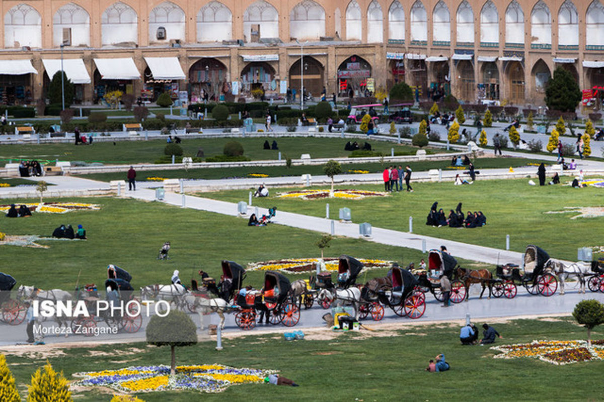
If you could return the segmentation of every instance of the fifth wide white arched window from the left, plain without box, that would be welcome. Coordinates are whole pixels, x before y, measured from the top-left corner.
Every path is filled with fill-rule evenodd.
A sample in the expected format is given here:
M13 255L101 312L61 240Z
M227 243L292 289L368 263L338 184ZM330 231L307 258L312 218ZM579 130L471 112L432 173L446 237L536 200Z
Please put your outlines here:
M210 1L197 13L197 41L219 42L233 37L233 14L226 5Z

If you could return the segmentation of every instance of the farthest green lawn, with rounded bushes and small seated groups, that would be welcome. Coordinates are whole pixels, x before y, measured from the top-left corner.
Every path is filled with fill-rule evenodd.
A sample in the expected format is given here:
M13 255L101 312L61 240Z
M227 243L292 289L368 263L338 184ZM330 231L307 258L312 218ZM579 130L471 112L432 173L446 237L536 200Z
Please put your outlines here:
M228 141L236 140L243 145L245 156L252 160L278 159L278 151L263 149L263 143L268 140L272 143L274 138L212 138L212 139L185 139L181 146L185 155L195 156L199 148L203 148L205 156L221 155L224 145ZM286 159L300 158L301 154L310 154L313 158L346 157L349 151L344 151L348 140L334 138L298 138L281 137L277 143L281 157ZM390 155L390 148L395 152L415 154L417 147L410 145L397 145L391 142L371 140L374 150ZM83 160L86 162L101 162L106 164L116 163L153 163L164 155L165 140L150 141L120 141L94 142L92 146L75 146L72 143L3 145L0 149L0 160L37 159L50 160ZM362 145L362 143L361 143ZM433 149L427 149L433 152ZM438 152L446 152L438 149Z

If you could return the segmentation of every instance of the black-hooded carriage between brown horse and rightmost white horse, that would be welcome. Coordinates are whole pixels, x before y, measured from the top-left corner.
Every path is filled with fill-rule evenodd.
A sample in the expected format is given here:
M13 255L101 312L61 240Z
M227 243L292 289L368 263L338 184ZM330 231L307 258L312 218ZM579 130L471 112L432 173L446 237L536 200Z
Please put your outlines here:
M496 276L500 281L493 283L493 296L513 298L518 293L518 286L521 284L532 295L544 295L549 297L556 293L558 281L551 274L550 269L545 265L550 260L550 256L540 247L528 245L524 253L524 273L520 273L520 268L516 264L498 265Z

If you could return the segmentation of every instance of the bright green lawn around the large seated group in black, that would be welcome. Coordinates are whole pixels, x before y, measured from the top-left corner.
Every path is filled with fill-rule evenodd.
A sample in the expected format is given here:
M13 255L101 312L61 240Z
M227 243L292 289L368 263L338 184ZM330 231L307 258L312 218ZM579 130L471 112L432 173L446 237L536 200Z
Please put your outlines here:
M536 180L536 179L535 179ZM563 178L562 183L570 180ZM312 216L325 216L326 203L330 204L333 218L338 210L349 207L354 222L370 222L376 227L408 231L408 218L413 216L414 233L444 239L505 248L506 234L510 234L510 248L524 251L528 244L544 248L551 257L575 260L577 247L597 246L602 243L604 217L570 219L577 213L547 214L564 207L604 206L604 190L588 187L573 189L562 186L529 186L528 179L478 180L474 184L454 186L446 183L412 183L414 192L399 192L385 198L347 199L281 199L277 192L288 189L271 189L268 198L254 199L261 207L277 206L278 210ZM342 186L339 186L342 187ZM346 187L346 186L344 186ZM350 186L349 186L350 187ZM384 186L355 186L355 189L384 190ZM237 202L248 199L248 190L201 193L201 196ZM448 215L457 203L467 211L482 211L487 225L480 228L435 228L426 226L426 216L434 203L439 202ZM472 256L466 256L472 259Z

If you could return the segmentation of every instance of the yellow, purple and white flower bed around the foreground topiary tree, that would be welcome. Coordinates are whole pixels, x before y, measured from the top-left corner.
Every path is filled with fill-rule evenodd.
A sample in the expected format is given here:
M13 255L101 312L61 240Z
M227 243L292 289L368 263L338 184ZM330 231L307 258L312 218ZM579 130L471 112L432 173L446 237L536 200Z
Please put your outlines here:
M274 372L276 371L213 364L176 366L175 375L170 375L170 367L164 365L76 372L73 375L82 378L75 385L109 386L127 393L177 389L222 392L231 385L262 383L267 375Z

